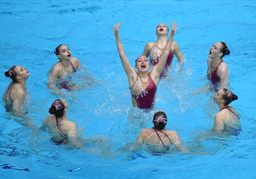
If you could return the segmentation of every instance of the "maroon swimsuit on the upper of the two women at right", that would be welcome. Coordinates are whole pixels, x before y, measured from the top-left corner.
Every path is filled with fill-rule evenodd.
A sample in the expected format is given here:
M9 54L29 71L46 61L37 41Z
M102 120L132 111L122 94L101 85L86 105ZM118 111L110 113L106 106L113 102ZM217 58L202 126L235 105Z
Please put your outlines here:
M212 67L210 65L210 67L207 70L207 77L212 83L211 89L215 92L218 91L217 88L218 88L218 85L221 81L221 79L218 75L218 69L219 69L219 66L221 65L222 62L223 62L223 60L221 60L215 67Z

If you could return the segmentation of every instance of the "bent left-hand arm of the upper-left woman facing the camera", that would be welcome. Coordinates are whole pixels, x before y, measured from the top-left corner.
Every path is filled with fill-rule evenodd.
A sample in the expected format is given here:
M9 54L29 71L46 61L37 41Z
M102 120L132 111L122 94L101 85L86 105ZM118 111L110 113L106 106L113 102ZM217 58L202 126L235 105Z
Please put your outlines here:
M59 78L59 76L61 76L61 73L62 73L62 69L61 69L61 66L58 66L58 64L55 64L51 68L49 76L48 76L48 84L47 84L47 87L49 89L52 89L55 91L59 90L58 88L56 88L54 86L54 84L56 83L56 80Z

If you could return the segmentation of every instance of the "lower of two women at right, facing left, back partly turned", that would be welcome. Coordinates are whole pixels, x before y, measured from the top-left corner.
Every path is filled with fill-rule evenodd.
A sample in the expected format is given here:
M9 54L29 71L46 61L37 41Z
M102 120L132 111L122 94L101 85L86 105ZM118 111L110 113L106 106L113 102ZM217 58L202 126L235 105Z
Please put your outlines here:
M230 90L223 88L214 94L214 102L219 106L219 112L216 113L214 118L214 130L216 133L223 131L235 131L236 133L241 130L239 115L232 106L229 106L238 97Z

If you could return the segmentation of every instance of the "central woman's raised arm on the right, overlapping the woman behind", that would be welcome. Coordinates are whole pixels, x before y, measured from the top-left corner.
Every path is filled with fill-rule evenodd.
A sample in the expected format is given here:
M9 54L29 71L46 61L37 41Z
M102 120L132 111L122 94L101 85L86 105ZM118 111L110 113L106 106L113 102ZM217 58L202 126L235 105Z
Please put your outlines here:
M176 30L177 30L177 26L176 26L176 23L174 22L173 25L172 23L170 22L170 25L171 25L171 34L169 36L169 39L167 41L167 44L166 46L164 47L163 49L163 53L160 57L160 60L158 61L158 63L153 67L152 71L151 71L151 76L153 77L153 80L155 81L155 83L158 82L158 79L159 79L159 76L160 74L162 73L162 70L164 68L164 65L167 61L167 58L168 58L168 55L169 55L169 52L171 50L171 47L172 47L172 42L173 42L173 39L174 39L174 35L176 33Z

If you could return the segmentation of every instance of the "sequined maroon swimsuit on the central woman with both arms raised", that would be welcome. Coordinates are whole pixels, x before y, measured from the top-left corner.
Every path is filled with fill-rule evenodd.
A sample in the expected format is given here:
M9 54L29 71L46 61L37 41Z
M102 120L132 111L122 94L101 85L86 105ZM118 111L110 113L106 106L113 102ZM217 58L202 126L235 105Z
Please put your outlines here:
M134 85L130 88L132 97L141 109L152 109L155 102L157 86L148 73L148 87L144 89L141 78L138 75ZM139 89L139 93L137 93Z

